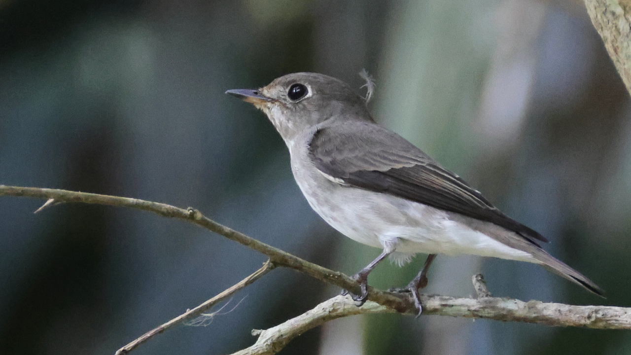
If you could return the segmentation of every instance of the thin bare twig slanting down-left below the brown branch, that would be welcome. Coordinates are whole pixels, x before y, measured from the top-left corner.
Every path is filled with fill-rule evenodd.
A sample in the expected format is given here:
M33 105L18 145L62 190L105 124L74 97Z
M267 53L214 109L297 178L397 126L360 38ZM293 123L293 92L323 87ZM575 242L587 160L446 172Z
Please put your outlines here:
M160 327L151 329L149 332L146 332L145 334L138 337L138 339L134 340L133 342L130 342L124 347L121 347L121 349L119 349L115 355L128 354L130 351L132 351L133 349L136 349L136 347L138 347L140 344L143 344L144 342L151 339L155 335L165 332L165 330L168 330L169 328L172 328L175 325L178 325L180 323L186 322L187 320L192 320L196 316L201 315L201 313L203 313L204 311L209 310L210 308L215 306L215 304L220 303L221 301L237 293L237 291L239 291L240 289L243 289L249 284L252 284L252 282L260 279L262 275L267 274L273 268L274 268L274 264L269 262L268 260L267 262L263 264L261 268L259 268L259 270L256 270L254 274L249 275L245 279L241 280L239 283L221 292L220 294L209 299L208 301L200 304L199 306L193 308L192 310L186 311L184 314L173 318L172 320L168 321L167 323L164 323L163 325L160 325Z

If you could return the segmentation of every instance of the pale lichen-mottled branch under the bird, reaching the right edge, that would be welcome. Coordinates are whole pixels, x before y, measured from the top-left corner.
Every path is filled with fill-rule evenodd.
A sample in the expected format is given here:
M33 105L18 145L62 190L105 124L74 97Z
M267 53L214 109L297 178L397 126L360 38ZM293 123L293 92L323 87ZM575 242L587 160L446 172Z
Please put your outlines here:
M422 295L423 315L463 316L495 320L519 320L560 327L631 329L631 308L607 306L569 306L560 303L519 301L509 298L452 298ZM325 322L351 315L394 313L368 301L355 306L350 296L336 296L314 309L267 330L254 330L254 345L232 355L271 355L283 349L293 338ZM413 316L411 313L407 315Z

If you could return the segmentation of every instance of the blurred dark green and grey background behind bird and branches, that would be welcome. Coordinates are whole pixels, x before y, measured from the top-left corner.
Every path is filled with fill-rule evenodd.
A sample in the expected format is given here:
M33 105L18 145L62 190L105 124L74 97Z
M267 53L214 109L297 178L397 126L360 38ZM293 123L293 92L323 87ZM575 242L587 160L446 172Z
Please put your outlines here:
M578 1L0 1L0 184L131 196L353 274L379 250L322 222L261 112L224 95L295 71L360 91L375 119L463 176L606 290L543 268L439 256L428 292L631 306L629 94ZM114 354L265 258L145 212L0 198L0 354ZM332 252L333 251L333 252ZM404 286L425 257L384 263ZM207 327L134 354L223 354L333 296L277 269ZM224 310L230 310L228 305ZM281 354L631 354L631 332L357 316Z

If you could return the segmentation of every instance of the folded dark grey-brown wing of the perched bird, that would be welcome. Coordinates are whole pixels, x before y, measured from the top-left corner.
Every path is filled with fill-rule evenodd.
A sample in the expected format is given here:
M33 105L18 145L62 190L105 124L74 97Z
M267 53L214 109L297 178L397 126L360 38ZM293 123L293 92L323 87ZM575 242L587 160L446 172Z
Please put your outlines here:
M345 184L492 222L530 243L541 234L503 214L456 174L396 133L352 121L319 129L309 143L315 167Z

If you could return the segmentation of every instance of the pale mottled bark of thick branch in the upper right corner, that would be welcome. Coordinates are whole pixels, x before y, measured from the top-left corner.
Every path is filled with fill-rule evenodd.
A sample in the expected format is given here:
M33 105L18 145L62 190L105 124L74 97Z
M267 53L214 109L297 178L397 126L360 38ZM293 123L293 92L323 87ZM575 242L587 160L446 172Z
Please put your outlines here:
M631 0L584 0L604 47L631 93Z

